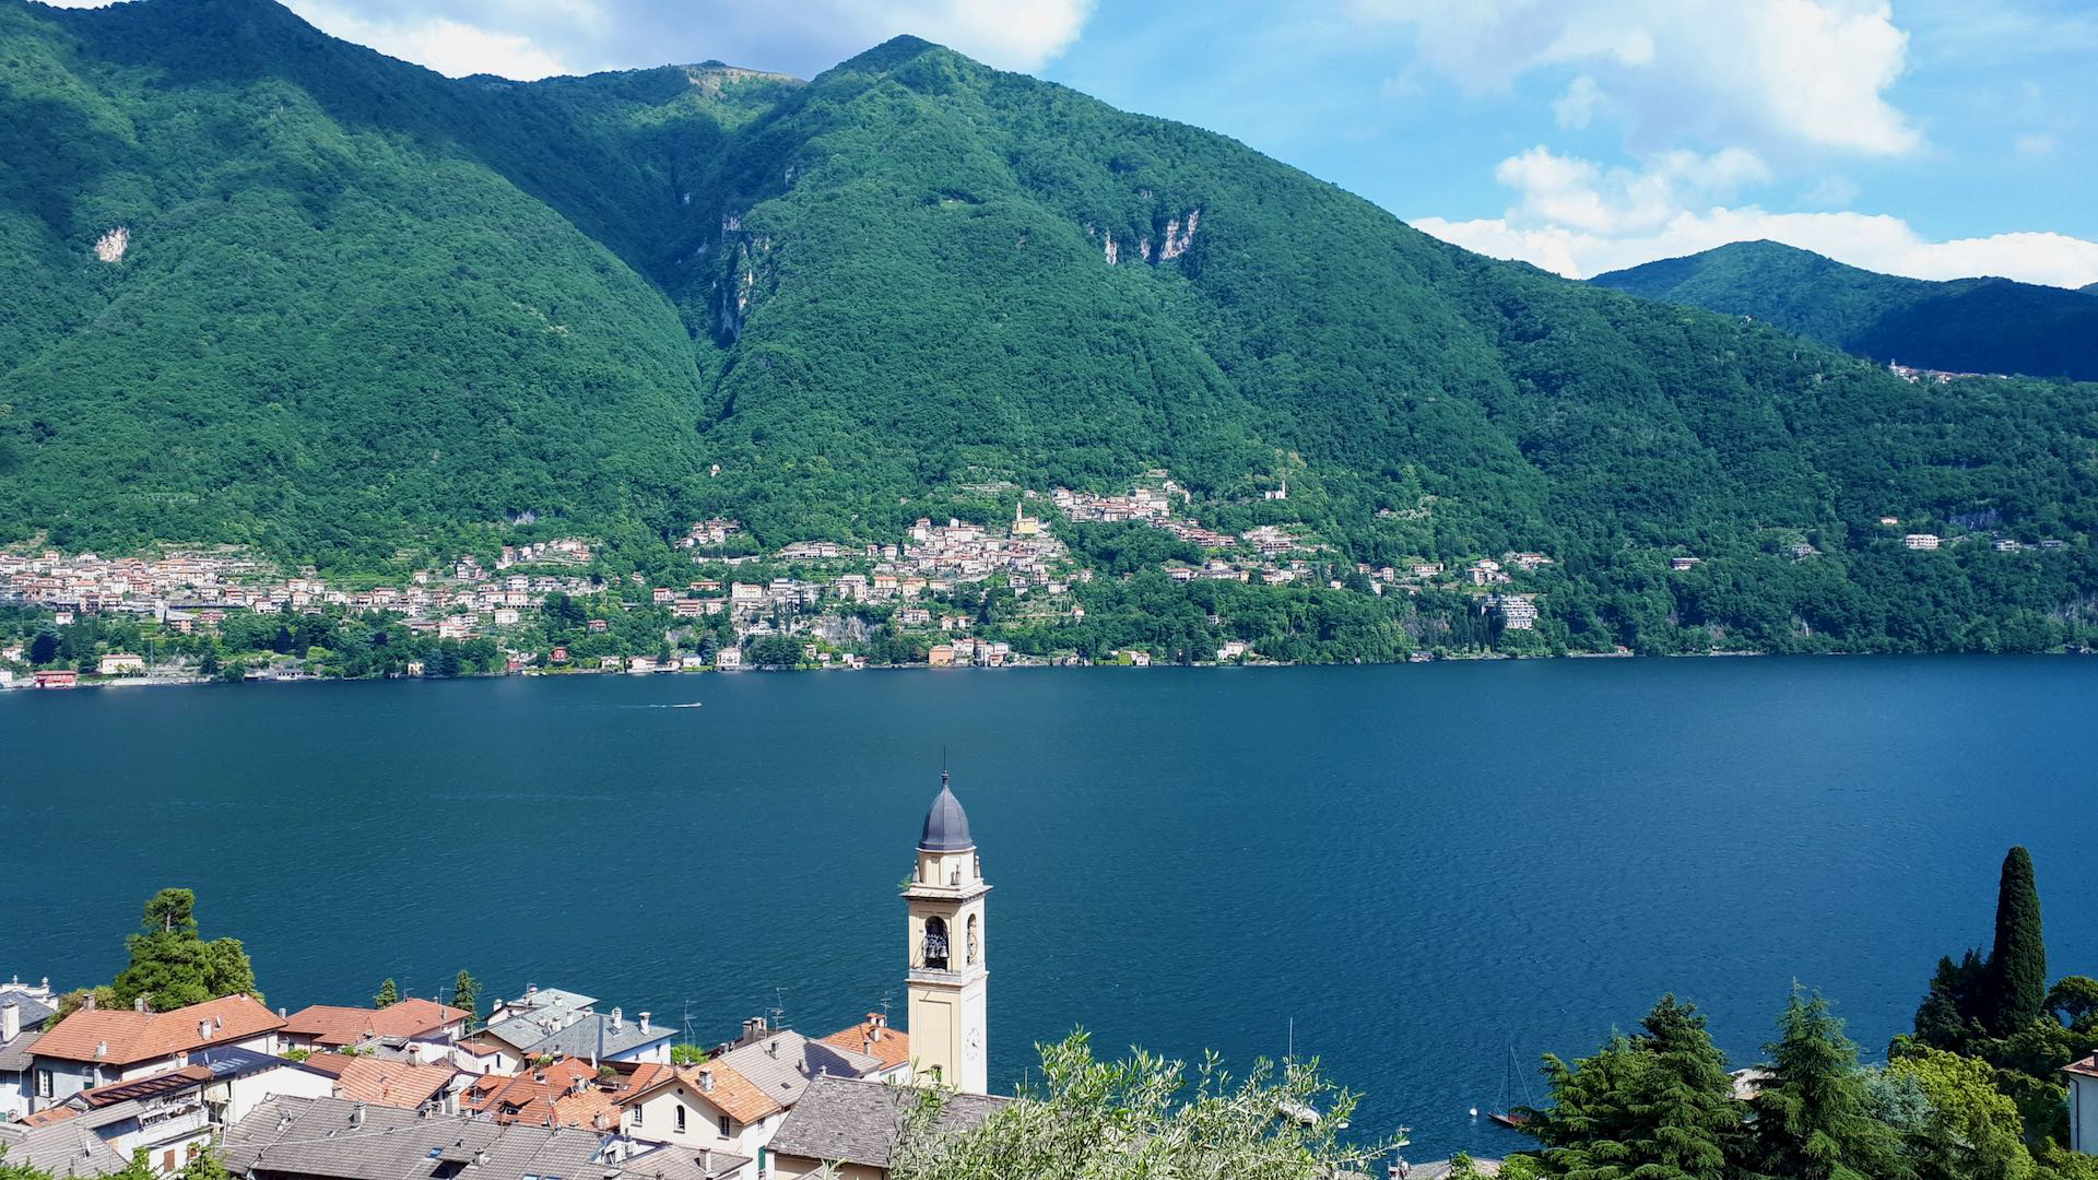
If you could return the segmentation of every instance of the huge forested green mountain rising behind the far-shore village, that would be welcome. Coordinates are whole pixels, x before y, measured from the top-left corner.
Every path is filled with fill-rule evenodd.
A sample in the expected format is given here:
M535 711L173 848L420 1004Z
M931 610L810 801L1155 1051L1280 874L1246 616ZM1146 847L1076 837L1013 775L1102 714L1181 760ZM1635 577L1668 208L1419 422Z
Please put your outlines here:
M2043 645L2098 588L2081 540L1939 561L1880 527L2081 538L2088 388L1909 384L1485 260L913 38L810 82L514 84L269 0L0 0L0 71L6 540L380 571L583 533L669 577L707 514L887 542L1162 466L1334 580L1553 552L1576 647Z

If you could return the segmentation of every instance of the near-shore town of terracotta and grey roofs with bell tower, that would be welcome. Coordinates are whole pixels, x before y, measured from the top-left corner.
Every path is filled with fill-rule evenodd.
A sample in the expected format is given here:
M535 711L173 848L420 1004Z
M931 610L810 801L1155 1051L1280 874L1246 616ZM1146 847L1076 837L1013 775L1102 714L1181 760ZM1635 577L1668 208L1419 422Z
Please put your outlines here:
M537 983L483 1014L464 970L436 997L388 978L369 1006L273 1010L245 951L201 939L195 894L162 890L115 985L0 983L0 1155L55 1180L885 1180L1028 1100L992 1094L988 892L942 775L900 890L906 1023L881 997L814 1035L774 1012L699 1041L690 1012ZM210 985L227 993L162 1004Z

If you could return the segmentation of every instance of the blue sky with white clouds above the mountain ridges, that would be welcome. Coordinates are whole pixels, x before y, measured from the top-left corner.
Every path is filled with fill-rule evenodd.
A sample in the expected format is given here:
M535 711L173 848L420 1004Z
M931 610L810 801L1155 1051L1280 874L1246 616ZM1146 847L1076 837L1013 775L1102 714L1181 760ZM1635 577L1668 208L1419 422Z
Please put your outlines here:
M2098 281L2098 0L290 6L453 76L720 59L812 78L917 34L1569 277L1769 237L1926 279Z

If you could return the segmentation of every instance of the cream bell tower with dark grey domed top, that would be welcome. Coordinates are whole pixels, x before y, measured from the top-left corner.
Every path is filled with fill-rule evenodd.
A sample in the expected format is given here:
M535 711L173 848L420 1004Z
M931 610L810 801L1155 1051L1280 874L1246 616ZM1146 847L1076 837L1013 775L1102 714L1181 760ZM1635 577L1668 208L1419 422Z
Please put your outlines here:
M963 1094L990 1088L990 1023L986 991L984 865L976 857L969 817L946 789L925 813L917 871L904 903L911 909L911 1058L919 1081Z

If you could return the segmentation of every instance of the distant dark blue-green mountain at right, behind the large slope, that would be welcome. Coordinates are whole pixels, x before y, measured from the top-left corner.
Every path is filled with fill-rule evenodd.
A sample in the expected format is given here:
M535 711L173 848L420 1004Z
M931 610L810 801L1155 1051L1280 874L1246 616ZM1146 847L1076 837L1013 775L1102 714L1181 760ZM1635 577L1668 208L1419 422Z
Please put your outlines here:
M1735 241L1590 281L1643 298L1754 315L1876 361L2098 380L2098 304L2064 288L1903 279L1777 241Z

